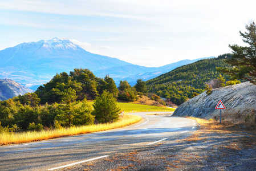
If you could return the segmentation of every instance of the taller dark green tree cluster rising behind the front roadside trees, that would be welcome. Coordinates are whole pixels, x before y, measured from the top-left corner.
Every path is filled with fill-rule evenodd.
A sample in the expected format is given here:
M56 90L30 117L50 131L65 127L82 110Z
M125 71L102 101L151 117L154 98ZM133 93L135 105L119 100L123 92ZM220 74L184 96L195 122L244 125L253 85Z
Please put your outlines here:
M74 69L68 75L67 72L56 74L50 82L40 86L35 93L40 98L40 103L61 102L66 94L74 93L74 100L95 99L104 90L117 96L118 90L112 78L105 76L97 78L88 69Z

